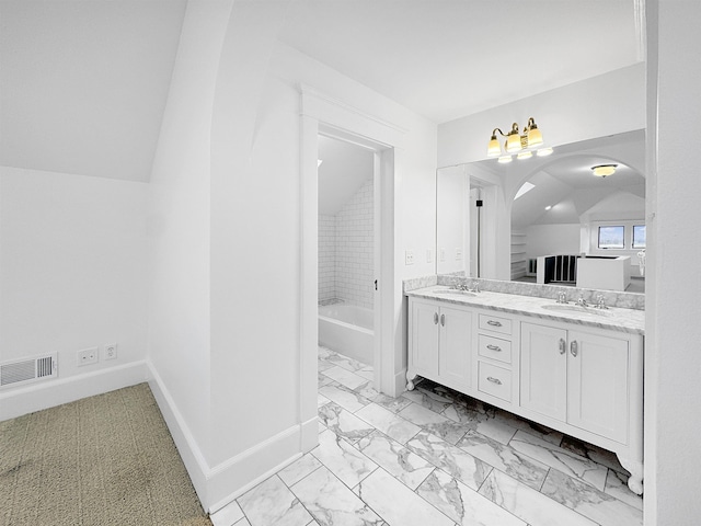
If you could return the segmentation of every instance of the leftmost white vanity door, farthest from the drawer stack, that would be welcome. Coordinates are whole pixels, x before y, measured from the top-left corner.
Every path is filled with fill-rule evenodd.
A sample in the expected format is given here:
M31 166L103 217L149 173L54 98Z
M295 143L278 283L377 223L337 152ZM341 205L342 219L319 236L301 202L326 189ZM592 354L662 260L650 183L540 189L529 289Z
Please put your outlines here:
M412 301L412 366L417 375L438 376L438 306L426 301Z

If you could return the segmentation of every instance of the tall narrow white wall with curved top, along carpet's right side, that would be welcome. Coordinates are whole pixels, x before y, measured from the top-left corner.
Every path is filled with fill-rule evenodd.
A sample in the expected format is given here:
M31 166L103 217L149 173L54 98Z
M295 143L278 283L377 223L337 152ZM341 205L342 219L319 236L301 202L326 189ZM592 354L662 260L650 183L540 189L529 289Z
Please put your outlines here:
M149 195L151 387L205 507L212 502L207 479L214 478L215 464L209 387L210 129L231 4L188 2Z

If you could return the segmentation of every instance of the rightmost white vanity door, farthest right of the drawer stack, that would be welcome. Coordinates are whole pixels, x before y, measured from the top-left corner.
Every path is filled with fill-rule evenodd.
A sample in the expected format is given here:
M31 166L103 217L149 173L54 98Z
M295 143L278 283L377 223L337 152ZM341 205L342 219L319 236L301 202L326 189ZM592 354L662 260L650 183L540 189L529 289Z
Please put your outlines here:
M567 354L570 424L627 444L628 341L570 331Z

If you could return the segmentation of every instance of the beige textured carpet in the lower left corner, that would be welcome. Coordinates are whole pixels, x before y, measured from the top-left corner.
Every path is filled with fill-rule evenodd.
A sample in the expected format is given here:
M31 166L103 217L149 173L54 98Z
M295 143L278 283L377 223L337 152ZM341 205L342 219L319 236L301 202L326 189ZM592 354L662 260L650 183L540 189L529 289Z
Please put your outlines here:
M211 525L147 384L0 422L0 525Z

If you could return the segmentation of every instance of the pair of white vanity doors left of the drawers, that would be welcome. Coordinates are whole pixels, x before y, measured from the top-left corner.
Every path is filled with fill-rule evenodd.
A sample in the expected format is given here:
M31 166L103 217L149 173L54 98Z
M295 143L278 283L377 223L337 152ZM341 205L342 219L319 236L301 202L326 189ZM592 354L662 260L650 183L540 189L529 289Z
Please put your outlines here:
M410 298L407 389L416 375L459 391L472 386L471 310Z

